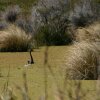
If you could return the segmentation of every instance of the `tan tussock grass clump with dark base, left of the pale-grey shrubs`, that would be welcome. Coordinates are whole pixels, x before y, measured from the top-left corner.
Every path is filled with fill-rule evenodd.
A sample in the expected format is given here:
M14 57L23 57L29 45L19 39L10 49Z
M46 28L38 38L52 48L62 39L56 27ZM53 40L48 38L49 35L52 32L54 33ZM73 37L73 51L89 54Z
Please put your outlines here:
M32 47L32 36L20 28L11 25L8 29L0 31L0 51L22 52Z

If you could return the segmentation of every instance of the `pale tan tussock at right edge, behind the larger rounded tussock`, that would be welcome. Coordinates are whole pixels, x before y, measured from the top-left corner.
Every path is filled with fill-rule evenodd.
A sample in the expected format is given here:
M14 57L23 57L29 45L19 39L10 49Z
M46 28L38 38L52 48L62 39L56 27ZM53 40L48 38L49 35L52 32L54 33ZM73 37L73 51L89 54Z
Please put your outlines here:
M76 41L100 41L100 23L94 23L86 28L77 29Z

